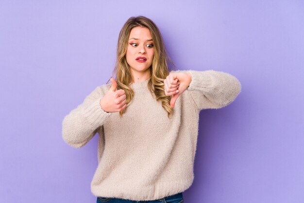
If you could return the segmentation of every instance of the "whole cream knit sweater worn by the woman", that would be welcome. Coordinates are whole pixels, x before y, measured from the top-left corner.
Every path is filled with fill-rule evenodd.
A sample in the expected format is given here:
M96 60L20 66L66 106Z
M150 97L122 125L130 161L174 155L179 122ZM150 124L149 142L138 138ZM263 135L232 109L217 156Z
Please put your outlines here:
M192 76L172 118L149 92L149 80L131 85L135 95L121 118L100 106L111 84L97 87L65 116L62 136L70 146L80 148L99 134L99 164L91 183L95 196L156 200L192 184L199 112L227 106L241 85L233 75L213 70L172 72Z

